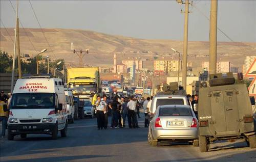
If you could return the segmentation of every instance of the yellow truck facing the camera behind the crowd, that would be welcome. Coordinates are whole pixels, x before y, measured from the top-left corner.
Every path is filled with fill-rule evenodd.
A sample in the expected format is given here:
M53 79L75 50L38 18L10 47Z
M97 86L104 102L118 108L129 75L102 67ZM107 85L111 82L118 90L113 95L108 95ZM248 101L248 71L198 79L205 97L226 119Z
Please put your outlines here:
M90 99L95 105L97 95L101 93L98 67L68 68L67 84L73 89L73 95L79 100Z

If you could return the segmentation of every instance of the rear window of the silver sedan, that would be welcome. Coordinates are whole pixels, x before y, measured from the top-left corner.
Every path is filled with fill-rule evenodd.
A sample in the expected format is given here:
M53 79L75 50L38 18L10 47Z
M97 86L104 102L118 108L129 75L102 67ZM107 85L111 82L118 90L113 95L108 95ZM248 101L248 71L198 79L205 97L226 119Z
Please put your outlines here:
M159 116L193 116L187 107L164 107L159 109Z

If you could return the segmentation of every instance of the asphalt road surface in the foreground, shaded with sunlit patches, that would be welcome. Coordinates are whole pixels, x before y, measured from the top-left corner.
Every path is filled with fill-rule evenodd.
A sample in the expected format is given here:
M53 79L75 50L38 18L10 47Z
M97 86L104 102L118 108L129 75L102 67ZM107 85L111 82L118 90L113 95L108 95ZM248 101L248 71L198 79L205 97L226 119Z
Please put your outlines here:
M109 119L110 121L110 119ZM68 137L29 134L27 139L1 139L0 161L256 161L256 149L242 140L210 145L209 152L187 143L147 143L147 128L97 130L96 118L69 124Z

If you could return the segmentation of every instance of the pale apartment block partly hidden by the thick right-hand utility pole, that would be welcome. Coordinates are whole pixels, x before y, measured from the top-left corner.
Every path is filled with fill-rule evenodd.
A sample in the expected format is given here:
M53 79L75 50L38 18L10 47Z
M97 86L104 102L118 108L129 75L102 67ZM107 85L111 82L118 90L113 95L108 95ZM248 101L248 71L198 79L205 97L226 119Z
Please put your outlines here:
M219 61L216 64L216 72L223 73L223 72L230 72L231 62L229 61ZM202 69L206 69L209 71L209 62L202 62Z

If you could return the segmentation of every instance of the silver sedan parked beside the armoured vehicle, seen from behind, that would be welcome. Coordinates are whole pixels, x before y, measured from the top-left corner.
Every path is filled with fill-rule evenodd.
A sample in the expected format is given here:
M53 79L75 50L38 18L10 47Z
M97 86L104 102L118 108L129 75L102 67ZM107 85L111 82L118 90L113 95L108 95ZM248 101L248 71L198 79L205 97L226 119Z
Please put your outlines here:
M199 124L189 105L158 106L148 127L148 143L188 142L199 146Z

